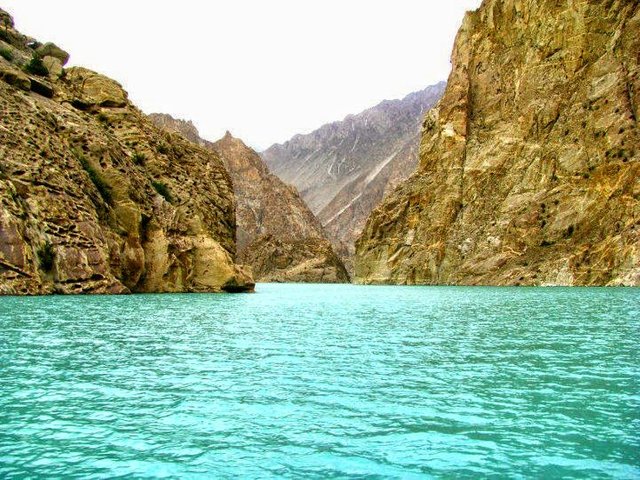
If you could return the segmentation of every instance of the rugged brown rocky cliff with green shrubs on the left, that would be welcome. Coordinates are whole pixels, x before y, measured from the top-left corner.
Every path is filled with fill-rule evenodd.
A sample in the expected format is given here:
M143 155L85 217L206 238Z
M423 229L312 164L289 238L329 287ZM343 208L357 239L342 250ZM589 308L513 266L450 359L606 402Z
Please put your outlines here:
M0 17L0 293L251 290L220 158Z

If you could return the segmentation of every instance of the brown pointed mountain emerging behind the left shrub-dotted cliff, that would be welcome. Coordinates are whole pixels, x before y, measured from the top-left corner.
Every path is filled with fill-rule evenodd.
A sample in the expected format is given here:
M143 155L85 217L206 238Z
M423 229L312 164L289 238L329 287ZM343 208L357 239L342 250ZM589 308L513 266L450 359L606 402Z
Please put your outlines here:
M238 204L238 261L263 282L348 282L342 261L298 192L272 175L260 156L229 132L217 142L191 122L151 114L162 128L216 152L229 171Z

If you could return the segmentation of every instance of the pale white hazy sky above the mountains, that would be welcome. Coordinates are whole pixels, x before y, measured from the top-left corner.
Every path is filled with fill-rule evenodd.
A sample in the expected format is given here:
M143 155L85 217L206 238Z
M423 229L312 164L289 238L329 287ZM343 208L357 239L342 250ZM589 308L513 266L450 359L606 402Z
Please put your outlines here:
M145 112L257 149L446 80L480 0L2 0Z

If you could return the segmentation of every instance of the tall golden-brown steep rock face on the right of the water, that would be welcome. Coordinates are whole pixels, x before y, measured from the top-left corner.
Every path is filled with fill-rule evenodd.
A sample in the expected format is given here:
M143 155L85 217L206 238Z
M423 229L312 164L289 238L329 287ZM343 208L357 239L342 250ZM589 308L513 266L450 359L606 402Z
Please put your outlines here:
M640 283L640 6L485 0L357 280Z

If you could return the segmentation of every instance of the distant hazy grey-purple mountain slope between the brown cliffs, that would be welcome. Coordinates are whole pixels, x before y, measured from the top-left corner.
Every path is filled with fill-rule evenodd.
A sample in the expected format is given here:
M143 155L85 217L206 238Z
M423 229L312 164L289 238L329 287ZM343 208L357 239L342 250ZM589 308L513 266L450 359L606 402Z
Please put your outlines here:
M420 123L444 88L385 100L262 152L273 173L300 191L347 263L371 210L415 170Z

